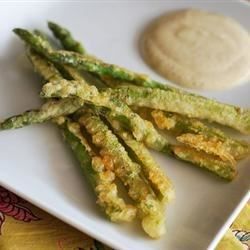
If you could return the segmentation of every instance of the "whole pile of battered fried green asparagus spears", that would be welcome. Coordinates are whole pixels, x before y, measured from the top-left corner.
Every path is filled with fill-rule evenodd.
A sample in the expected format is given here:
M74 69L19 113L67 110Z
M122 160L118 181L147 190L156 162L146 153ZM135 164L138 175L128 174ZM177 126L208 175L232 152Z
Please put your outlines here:
M165 232L165 206L174 198L174 189L147 148L227 180L235 177L236 162L249 154L249 145L207 122L249 134L249 110L107 64L87 54L67 29L52 22L49 28L64 50L53 48L38 30L14 29L46 82L40 95L47 101L39 110L4 120L0 129L56 123L110 220L131 221L138 215L151 237ZM174 136L176 143L156 128ZM118 179L132 204L119 194Z

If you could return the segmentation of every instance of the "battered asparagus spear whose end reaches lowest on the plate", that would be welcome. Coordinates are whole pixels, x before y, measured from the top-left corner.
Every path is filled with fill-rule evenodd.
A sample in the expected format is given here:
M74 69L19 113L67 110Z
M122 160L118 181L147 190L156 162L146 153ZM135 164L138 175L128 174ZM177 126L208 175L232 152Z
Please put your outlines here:
M153 238L160 237L165 233L164 209L141 177L140 166L131 160L117 137L98 116L87 113L79 122L92 135L92 142L100 149L100 155L112 160L114 172L136 202L144 231Z

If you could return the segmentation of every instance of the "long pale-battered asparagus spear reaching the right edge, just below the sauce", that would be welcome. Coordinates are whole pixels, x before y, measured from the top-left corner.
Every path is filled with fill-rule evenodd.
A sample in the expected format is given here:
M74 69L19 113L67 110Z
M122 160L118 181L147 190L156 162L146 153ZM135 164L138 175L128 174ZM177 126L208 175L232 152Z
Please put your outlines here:
M242 133L248 133L245 129L250 129L249 110L224 105L214 100L206 99L206 102L200 102L192 95L137 86L115 88L112 90L112 95L131 106L148 107L207 119L231 126Z

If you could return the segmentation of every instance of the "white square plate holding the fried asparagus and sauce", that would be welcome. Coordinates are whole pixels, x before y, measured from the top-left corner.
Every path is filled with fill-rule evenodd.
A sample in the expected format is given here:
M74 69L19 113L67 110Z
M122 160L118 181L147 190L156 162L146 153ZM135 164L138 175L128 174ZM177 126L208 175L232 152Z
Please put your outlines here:
M47 20L58 22L98 57L164 81L141 59L138 38L153 18L184 7L232 16L250 30L250 8L232 0L0 3L0 117L41 104L38 77L23 43L11 32L14 27L45 29ZM202 94L250 107L249 93L246 84ZM149 239L138 224L116 225L99 213L77 162L50 124L0 133L0 184L116 249L213 249L249 198L249 159L240 163L236 180L226 183L197 167L154 156L173 180L177 196L167 211L167 234L160 240Z

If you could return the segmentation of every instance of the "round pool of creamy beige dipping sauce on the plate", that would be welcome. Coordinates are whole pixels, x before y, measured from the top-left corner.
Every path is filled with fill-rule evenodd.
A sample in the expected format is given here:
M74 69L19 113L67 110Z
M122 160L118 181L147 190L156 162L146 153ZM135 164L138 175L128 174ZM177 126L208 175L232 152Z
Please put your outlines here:
M235 20L188 9L145 31L142 53L167 79L190 88L225 89L250 79L250 35Z

